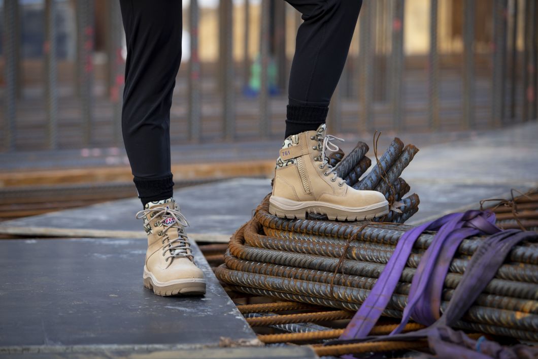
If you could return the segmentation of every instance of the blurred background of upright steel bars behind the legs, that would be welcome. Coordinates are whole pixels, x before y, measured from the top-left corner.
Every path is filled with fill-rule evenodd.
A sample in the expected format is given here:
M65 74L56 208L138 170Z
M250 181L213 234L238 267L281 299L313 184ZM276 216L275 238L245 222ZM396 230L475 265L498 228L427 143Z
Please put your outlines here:
M0 4L0 151L121 148L119 2ZM537 18L535 0L364 0L331 131L535 119ZM172 144L281 138L300 14L282 0L190 0L183 19Z

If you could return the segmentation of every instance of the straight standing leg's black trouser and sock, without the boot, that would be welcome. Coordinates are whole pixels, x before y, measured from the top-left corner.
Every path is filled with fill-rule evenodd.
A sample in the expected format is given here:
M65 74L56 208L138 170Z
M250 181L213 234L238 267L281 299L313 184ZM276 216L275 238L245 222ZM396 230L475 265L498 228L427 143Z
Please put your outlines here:
M181 1L121 0L127 60L123 140L143 205L173 195L170 107L181 62Z

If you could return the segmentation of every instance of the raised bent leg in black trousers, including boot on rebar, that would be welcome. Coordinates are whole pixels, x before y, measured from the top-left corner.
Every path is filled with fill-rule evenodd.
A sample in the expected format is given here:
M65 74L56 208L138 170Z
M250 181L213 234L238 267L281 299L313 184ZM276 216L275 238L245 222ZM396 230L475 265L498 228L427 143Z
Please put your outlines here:
M269 212L304 219L364 220L388 213L385 196L349 187L328 163L338 150L325 133L329 102L348 56L361 1L287 0L302 13L292 71L286 135L275 168Z

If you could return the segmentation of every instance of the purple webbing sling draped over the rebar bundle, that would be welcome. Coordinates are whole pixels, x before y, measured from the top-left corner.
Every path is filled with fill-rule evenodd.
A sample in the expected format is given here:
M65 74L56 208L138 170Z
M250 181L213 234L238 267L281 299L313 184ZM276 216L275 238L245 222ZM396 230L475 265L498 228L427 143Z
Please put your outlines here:
M522 232L520 230L501 231L494 223L495 216L491 212L471 210L465 213L443 216L406 232L400 238L394 255L391 256L376 285L372 288L359 311L353 316L344 333L339 340L326 344L364 340L410 340L427 336L430 346L438 347L437 349L440 352L447 345L450 350L457 350L458 348L463 350L457 344L452 342L447 344L447 342L439 338L450 337L446 333L453 331L447 326L453 325L472 305L494 277L513 245L523 240L536 240L538 236L536 233ZM415 271L408 296L408 304L404 309L400 325L388 336L367 337L392 297L394 288L398 283L401 272L405 268L416 239L425 230L438 230L438 232ZM447 310L439 318L442 287L452 257L464 238L477 234L494 235L486 238L472 256ZM411 317L417 322L431 325L431 327L417 332L397 335ZM441 335L441 331L445 335ZM469 340L472 341L471 339ZM484 346L484 348L492 347L494 346L489 344ZM454 354L453 351L452 354ZM346 355L343 357L352 358L353 356Z

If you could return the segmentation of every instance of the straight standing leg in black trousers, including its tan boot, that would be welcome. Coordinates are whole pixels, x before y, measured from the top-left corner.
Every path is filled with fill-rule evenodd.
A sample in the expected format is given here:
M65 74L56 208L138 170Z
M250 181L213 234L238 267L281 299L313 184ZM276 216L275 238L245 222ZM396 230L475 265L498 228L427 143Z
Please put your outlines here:
M159 295L204 294L187 221L173 198L170 107L181 62L181 1L121 0L127 40L122 129L147 234L144 286Z

